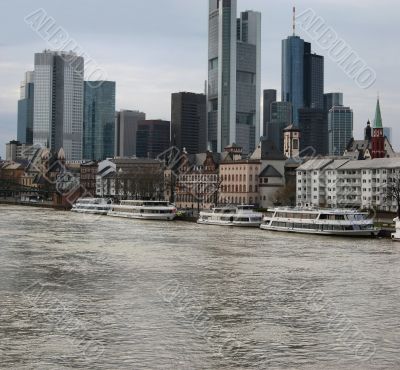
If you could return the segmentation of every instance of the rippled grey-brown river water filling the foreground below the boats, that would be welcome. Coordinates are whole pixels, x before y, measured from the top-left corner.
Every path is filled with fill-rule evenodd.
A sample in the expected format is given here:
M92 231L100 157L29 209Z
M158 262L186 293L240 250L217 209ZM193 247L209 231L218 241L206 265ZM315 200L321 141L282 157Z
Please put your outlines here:
M0 206L0 368L398 369L400 243Z

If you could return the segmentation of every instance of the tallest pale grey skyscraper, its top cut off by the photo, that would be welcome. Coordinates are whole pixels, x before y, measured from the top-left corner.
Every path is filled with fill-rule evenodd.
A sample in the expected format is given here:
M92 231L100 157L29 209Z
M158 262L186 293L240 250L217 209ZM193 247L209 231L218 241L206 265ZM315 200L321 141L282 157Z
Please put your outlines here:
M260 137L261 14L236 14L237 0L209 0L208 141L248 153Z

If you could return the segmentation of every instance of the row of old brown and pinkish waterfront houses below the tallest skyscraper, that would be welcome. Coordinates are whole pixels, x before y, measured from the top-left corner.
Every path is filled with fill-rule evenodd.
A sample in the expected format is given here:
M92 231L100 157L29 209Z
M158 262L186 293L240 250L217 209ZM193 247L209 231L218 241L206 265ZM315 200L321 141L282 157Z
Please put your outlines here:
M175 194L166 186L168 199L179 208L210 208L215 204L253 204L270 207L285 186L286 158L274 144L262 140L244 159L235 144L223 153L183 155L176 167ZM171 171L167 171L170 178Z

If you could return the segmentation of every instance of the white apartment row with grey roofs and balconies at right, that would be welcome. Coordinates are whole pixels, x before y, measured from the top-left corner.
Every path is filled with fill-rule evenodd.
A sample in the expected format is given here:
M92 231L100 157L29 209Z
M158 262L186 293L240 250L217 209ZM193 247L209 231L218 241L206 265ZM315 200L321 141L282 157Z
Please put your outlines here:
M297 168L297 204L396 212L387 188L399 176L400 158L310 159Z

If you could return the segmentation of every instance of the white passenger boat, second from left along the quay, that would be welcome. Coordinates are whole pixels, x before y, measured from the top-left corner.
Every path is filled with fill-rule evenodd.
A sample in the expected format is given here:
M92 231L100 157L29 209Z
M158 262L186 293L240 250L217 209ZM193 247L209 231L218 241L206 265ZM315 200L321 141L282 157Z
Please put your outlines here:
M112 206L108 215L142 220L172 221L176 217L176 207L166 201L121 200L120 204Z

